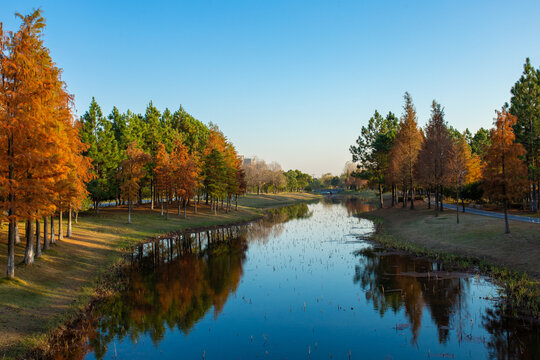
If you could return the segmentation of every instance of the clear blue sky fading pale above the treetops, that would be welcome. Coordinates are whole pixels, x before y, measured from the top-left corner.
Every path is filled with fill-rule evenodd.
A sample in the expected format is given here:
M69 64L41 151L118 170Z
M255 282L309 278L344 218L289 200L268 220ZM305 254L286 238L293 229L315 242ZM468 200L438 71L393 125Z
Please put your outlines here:
M476 130L540 66L540 1L1 0L4 29L37 7L78 115L92 96L106 114L182 104L239 153L316 175L405 91L421 125L436 99Z

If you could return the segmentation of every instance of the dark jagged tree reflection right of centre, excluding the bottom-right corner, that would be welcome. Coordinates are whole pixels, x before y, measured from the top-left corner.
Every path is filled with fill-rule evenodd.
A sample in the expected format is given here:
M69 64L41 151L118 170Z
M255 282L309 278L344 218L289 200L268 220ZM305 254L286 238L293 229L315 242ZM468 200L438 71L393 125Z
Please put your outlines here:
M418 338L425 308L437 325L440 343L448 341L454 313L468 316L466 303L462 301L463 290L469 286L468 279L436 277L437 272L443 270L441 265L425 259L400 254L381 256L373 250L359 254L360 265L356 266L354 282L366 291L366 298L381 316L388 310L394 313L404 310L413 342ZM432 275L426 276L428 272Z

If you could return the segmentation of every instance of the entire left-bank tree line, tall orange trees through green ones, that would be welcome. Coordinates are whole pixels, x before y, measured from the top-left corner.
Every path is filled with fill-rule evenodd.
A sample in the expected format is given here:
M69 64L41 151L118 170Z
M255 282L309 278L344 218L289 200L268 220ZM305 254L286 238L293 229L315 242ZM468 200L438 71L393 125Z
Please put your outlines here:
M19 222L25 221L24 263L31 264L57 239L72 235L72 214L103 201L128 206L150 198L169 216L173 202L186 208L206 201L214 213L231 210L246 191L245 171L234 145L214 125L181 106L144 115L105 117L92 98L79 119L62 70L43 44L40 10L23 16L17 31L0 23L0 225L8 224L7 276L15 276ZM164 214L164 208L166 212ZM55 221L58 229L55 229ZM43 228L42 228L43 225Z

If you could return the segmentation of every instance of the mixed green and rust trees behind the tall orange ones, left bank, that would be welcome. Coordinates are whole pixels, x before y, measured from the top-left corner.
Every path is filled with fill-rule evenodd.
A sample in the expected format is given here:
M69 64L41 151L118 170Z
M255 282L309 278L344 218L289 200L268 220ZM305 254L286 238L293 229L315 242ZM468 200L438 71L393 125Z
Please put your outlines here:
M246 190L245 172L238 154L216 125L206 126L181 106L160 112L150 102L144 115L120 113L113 107L103 116L93 98L82 116L81 138L88 145L96 178L88 192L97 212L99 203L133 203L150 197L162 209L176 199L178 208L205 194L217 211L217 200L231 199ZM163 211L162 211L163 213Z

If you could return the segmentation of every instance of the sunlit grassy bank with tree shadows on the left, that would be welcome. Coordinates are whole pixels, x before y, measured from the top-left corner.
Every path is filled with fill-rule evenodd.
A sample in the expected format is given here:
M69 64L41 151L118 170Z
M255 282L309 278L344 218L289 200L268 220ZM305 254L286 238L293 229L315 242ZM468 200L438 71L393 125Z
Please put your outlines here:
M169 220L159 209L144 206L135 209L132 224L127 224L125 208L101 209L98 215L79 216L73 237L59 241L29 266L21 264L24 243L17 245L17 279L0 280L0 358L23 356L39 346L50 331L73 318L96 295L97 279L130 245L173 231L256 219L265 209L314 198L310 194L247 195L240 199L238 211L213 215L201 206L197 214L191 208L184 219L171 208ZM5 226L0 237L0 269L4 271Z

